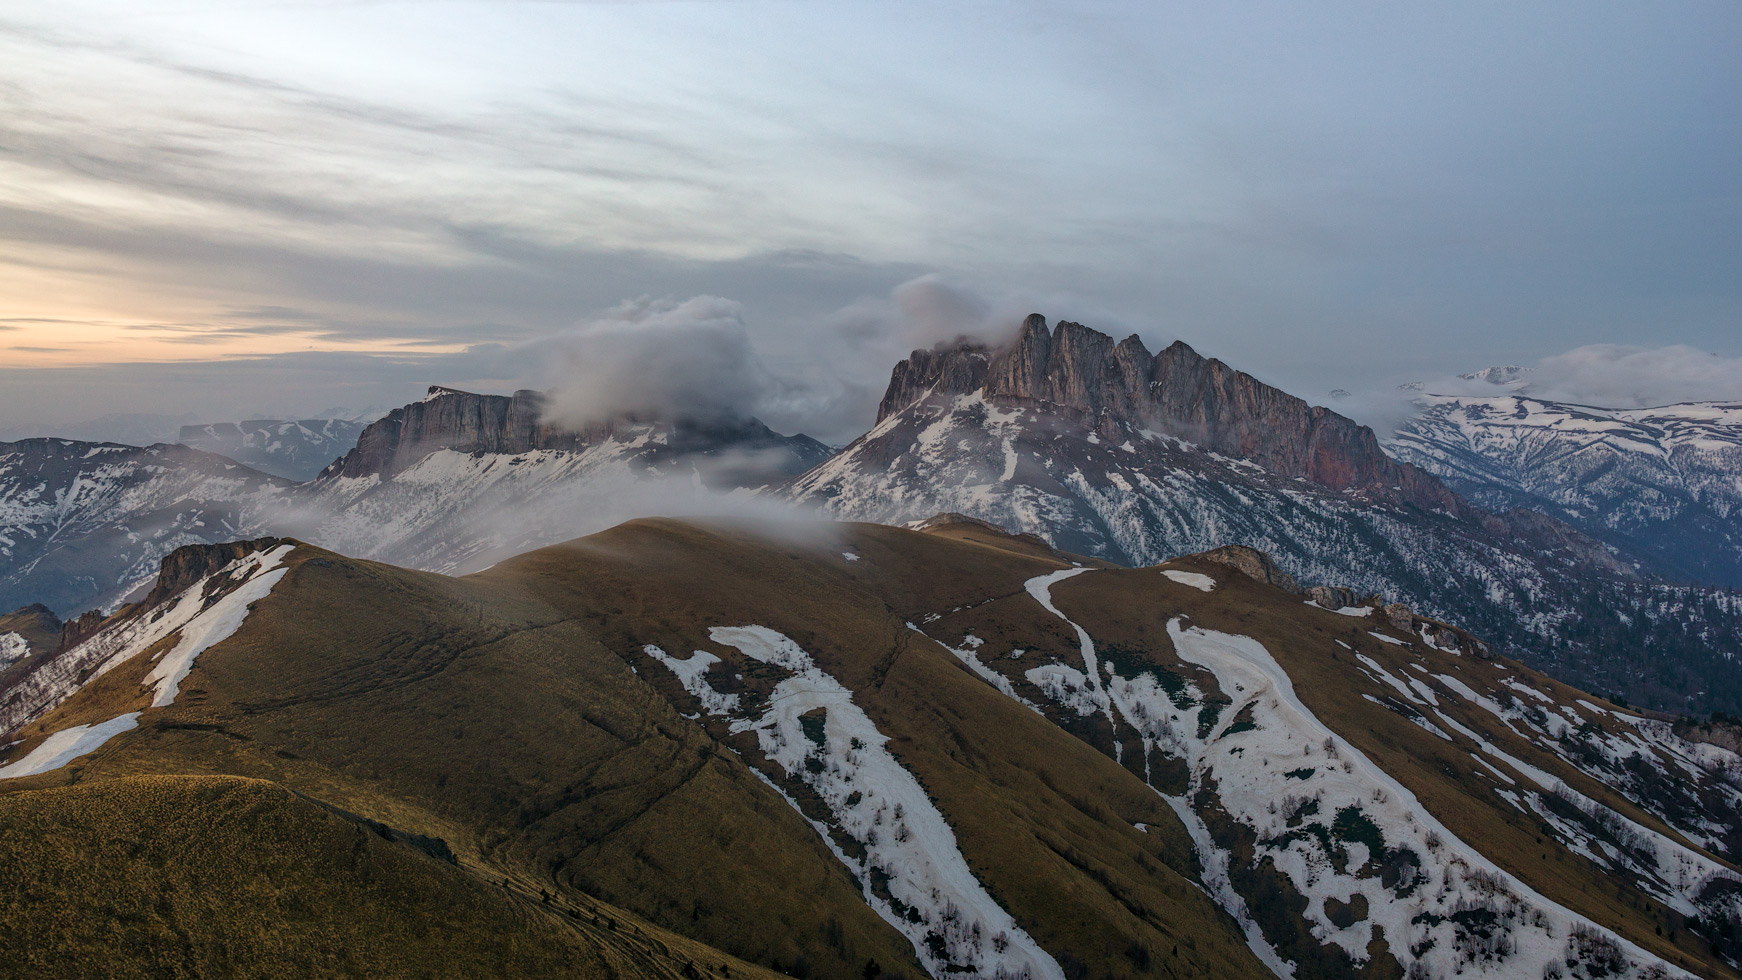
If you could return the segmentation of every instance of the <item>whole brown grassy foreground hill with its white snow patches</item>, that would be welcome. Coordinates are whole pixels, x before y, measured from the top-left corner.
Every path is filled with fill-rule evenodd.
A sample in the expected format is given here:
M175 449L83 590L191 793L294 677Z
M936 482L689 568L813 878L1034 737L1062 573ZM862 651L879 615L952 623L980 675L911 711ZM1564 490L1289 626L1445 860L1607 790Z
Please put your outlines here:
M1249 548L812 531L638 520L458 580L169 555L0 688L0 867L30 883L0 963L1739 977L1728 726Z

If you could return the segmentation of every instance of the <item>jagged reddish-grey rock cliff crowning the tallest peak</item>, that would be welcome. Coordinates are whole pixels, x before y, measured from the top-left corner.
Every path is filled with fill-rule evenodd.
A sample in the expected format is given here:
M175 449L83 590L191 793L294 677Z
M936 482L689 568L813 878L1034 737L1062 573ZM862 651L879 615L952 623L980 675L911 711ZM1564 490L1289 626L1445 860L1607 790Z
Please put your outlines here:
M932 390L984 390L1005 404L1045 404L1089 423L1108 416L1331 489L1477 515L1437 479L1387 456L1371 428L1205 359L1183 341L1150 353L1136 334L1115 345L1073 322L1049 332L1045 317L1035 313L1007 348L958 343L913 352L895 367L878 421Z

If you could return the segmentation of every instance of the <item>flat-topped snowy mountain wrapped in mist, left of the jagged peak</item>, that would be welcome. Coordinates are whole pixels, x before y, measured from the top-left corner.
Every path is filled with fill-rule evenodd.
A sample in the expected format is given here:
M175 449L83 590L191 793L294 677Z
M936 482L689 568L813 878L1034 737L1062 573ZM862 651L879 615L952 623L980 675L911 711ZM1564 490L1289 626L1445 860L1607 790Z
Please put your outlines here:
M829 456L754 418L544 421L544 395L432 386L371 423L275 526L334 550L465 573L613 522L718 510Z

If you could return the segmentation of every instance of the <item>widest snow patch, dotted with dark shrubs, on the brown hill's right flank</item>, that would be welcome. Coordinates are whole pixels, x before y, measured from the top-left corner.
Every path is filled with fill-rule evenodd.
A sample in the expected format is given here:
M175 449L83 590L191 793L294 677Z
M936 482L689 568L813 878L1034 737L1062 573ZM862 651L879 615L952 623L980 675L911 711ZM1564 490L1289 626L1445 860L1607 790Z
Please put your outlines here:
M1030 580L1030 594L1070 623L1045 594L1054 580ZM1087 632L1071 625L1090 651ZM1205 787L1214 787L1223 809L1258 837L1259 853L1306 896L1313 936L1340 945L1355 963L1367 959L1367 943L1381 930L1392 954L1423 977L1542 977L1570 952L1577 956L1580 936L1594 935L1622 950L1625 977L1685 975L1531 891L1453 836L1402 783L1324 726L1258 641L1186 628L1179 620L1167 632L1179 658L1207 668L1233 701L1205 717L1195 684L1176 681L1167 689L1157 672L1120 677L1110 670L1106 693L1138 729L1146 759L1153 750L1186 759L1192 790L1169 804L1192 830L1211 895L1240 921L1249 942L1261 936L1239 896L1221 886L1228 855L1188 816L1186 801ZM1432 691L1362 660L1409 701L1441 714L1421 696ZM1092 653L1085 663L1094 663ZM1355 895L1366 898L1367 917L1336 926L1326 902L1348 903ZM1470 917L1475 910L1491 916L1491 924L1474 924L1482 921Z

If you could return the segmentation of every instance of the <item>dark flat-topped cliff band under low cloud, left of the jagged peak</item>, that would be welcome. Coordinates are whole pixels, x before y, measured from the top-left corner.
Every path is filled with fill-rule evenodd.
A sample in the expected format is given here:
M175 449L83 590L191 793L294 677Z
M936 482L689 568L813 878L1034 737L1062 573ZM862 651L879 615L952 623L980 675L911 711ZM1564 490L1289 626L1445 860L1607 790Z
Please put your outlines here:
M388 477L430 453L533 453L575 451L613 435L662 430L662 454L744 451L786 454L775 470L794 475L829 456L829 447L808 435L780 435L754 418L646 420L618 414L584 428L545 421L542 392L477 395L432 385L422 402L394 409L357 437L357 447L322 470L321 477ZM766 473L760 472L763 479Z

